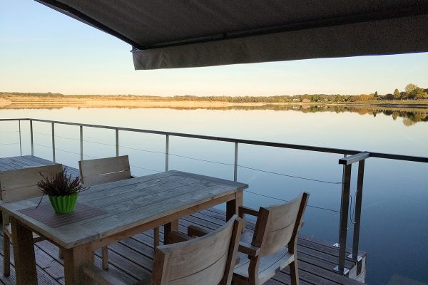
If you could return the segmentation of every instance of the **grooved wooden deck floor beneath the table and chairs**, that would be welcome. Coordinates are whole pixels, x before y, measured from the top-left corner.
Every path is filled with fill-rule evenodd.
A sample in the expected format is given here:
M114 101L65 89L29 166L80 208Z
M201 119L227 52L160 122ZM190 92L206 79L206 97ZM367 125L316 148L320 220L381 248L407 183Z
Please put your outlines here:
M53 163L39 157L6 157L0 158L0 171L22 167L46 165ZM78 170L68 167L68 170L78 175ZM218 209L206 209L184 219L180 219L180 231L185 232L190 224L197 224L207 229L216 229L225 223L225 213ZM246 223L247 230L253 231L254 223L249 220ZM0 233L3 239L3 234ZM163 240L163 228L161 227L161 240ZM0 241L3 244L3 241ZM153 265L153 230L137 234L134 237L116 242L108 247L109 269L114 276L122 279L127 284L133 284L139 279L151 274ZM11 247L13 252L13 247ZM38 269L39 284L64 284L63 261L58 258L58 248L44 241L35 245L36 264ZM297 242L297 258L300 274L300 284L362 284L357 279L357 264L352 259L347 259L345 266L350 268L350 276L354 279L335 273L332 269L337 264L339 249L327 243L310 237L300 236ZM365 252L360 252L364 258ZM0 274L0 284L16 284L13 254L11 254L11 276L4 277ZM96 253L96 265L101 266L101 253ZM363 262L364 263L364 262ZM3 247L0 249L0 270L3 269ZM364 266L363 266L364 269ZM365 271L358 276L364 280ZM281 271L265 284L290 284L288 269Z

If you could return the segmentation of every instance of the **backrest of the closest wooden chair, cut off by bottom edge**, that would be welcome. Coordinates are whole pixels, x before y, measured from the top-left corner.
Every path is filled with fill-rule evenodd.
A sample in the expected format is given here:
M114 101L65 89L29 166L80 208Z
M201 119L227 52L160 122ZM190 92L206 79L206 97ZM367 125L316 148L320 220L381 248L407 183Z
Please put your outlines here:
M241 231L242 220L235 215L203 237L157 247L153 285L230 284Z

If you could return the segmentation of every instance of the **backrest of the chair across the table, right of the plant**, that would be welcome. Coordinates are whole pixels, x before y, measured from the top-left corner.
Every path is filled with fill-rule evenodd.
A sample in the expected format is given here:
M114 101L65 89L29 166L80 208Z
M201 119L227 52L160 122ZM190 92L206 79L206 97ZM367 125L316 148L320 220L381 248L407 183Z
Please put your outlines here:
M83 185L91 186L131 178L128 155L78 162Z

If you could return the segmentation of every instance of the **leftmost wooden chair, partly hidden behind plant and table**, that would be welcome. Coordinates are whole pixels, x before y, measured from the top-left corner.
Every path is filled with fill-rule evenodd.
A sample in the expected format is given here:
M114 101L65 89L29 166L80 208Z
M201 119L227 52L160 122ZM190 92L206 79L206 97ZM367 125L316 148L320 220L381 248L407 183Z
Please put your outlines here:
M62 169L62 165L46 165L22 168L19 170L1 171L1 199L3 202L14 202L22 199L40 197L42 192L39 190L39 187L37 187L36 184L43 179L41 175L49 176L51 173L61 172ZM4 250L3 274L4 276L9 276L11 272L10 240L12 240L12 232L9 222L9 215L5 212L3 212L2 215ZM43 237L33 233L34 243L40 242L42 240L44 240Z

